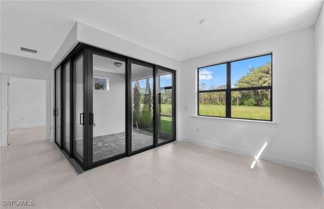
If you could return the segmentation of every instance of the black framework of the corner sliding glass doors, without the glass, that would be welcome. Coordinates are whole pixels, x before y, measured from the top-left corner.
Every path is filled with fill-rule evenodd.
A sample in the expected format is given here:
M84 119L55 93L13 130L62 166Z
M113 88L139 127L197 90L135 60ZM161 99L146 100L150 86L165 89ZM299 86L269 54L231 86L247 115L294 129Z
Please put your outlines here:
M93 54L107 57L110 59L115 59L115 60L120 60L125 62L125 91L126 91L126 97L125 97L125 106L126 106L126 114L125 114L125 127L126 127L126 142L125 142L125 153L115 155L113 157L109 157L107 159L103 159L100 161L93 162L93 125L90 124L90 114L93 112L93 87L92 87L92 82L93 82ZM74 80L75 80L75 73L74 73L74 61L79 59L80 56L83 56L83 76L84 76L84 92L83 92L83 97L84 97L84 132L83 132L83 161L80 161L78 157L75 156L74 153L74 103L75 103L75 86L74 86ZM65 94L66 94L66 82L65 82L65 73L63 72L63 66L67 62L70 62L70 107L65 107ZM132 64L137 64L145 67L152 68L152 73L153 73L153 145L135 150L132 152L132 80L131 80L131 75L132 75L132 69L131 65ZM93 169L97 166L100 166L102 164L106 164L108 162L124 158L127 156L132 156L135 154L138 154L140 152L144 152L146 150L176 141L176 71L161 67L149 62L141 61L138 59L130 58L125 55L120 55L114 52L110 52L108 50L100 49L97 47L93 47L87 44L79 43L76 45L76 47L70 52L70 54L58 65L55 69L55 72L58 69L61 69L61 109L64 108L70 108L70 152L67 151L67 149L64 149L63 146L63 129L61 127L61 145L59 146L60 149L62 149L66 155L68 155L70 158L73 158L81 167L84 171ZM158 106L158 83L157 83L157 78L158 74L157 71L158 69L168 71L172 73L172 115L173 115L173 122L172 122L172 129L173 129L173 139L160 143L158 144L158 139L157 139L157 106ZM56 76L56 73L55 73ZM63 78L64 77L64 78ZM64 79L64 82L63 82ZM64 84L64 85L63 85ZM91 84L91 85L90 85ZM54 89L55 89L55 108L56 108L56 77L55 77L55 82L54 82ZM62 111L61 111L62 112ZM66 111L63 111L64 114L61 114L61 124L65 126L65 113ZM54 110L55 113L55 110ZM64 118L64 120L63 120ZM55 129L56 129L56 116L55 116ZM65 127L64 127L65 128ZM56 133L56 130L54 131ZM89 139L89 140L88 140ZM56 135L55 135L55 140L56 140Z

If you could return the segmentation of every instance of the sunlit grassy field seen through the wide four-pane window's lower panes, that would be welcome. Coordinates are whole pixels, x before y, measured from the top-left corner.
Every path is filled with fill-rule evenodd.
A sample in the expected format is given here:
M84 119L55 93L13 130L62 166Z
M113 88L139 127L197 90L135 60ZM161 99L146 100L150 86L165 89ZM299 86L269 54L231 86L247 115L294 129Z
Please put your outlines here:
M199 115L225 117L225 105L199 105ZM269 120L270 107L248 107L232 105L232 117Z

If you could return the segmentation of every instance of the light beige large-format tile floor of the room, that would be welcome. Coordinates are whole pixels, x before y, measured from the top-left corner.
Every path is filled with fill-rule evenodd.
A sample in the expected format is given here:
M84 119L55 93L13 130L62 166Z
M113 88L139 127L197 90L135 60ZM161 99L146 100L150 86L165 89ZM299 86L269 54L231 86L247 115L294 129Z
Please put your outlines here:
M1 200L22 208L323 208L313 173L173 142L77 175L42 128L1 148ZM2 206L2 208L21 208Z

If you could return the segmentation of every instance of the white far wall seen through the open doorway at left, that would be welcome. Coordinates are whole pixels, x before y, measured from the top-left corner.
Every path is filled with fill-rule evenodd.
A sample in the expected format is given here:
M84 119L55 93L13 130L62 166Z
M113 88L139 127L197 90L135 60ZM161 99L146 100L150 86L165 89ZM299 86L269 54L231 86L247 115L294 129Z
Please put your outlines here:
M10 78L10 130L45 126L46 81Z

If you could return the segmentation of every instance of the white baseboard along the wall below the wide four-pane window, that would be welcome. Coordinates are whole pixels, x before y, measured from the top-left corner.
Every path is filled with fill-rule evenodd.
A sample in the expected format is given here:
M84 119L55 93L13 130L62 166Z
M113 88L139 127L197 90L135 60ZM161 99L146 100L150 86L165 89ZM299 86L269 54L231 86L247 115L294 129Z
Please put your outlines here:
M244 150L244 149L220 145L220 144L213 143L213 142L201 141L201 140L192 139L189 137L181 137L181 140L186 141L186 142L191 142L194 144L199 144L199 145L206 146L206 147L212 147L212 148L232 152L235 154L245 155L245 156L249 156L249 157L255 157L255 153L248 151L248 150ZM282 164L282 165L287 165L287 166L290 166L290 167L293 167L296 169L301 169L304 171L314 172L314 165L307 164L304 162L298 162L295 160L290 160L290 159L286 159L286 158L275 157L275 156L270 156L270 155L265 155L265 154L261 154L259 159Z

